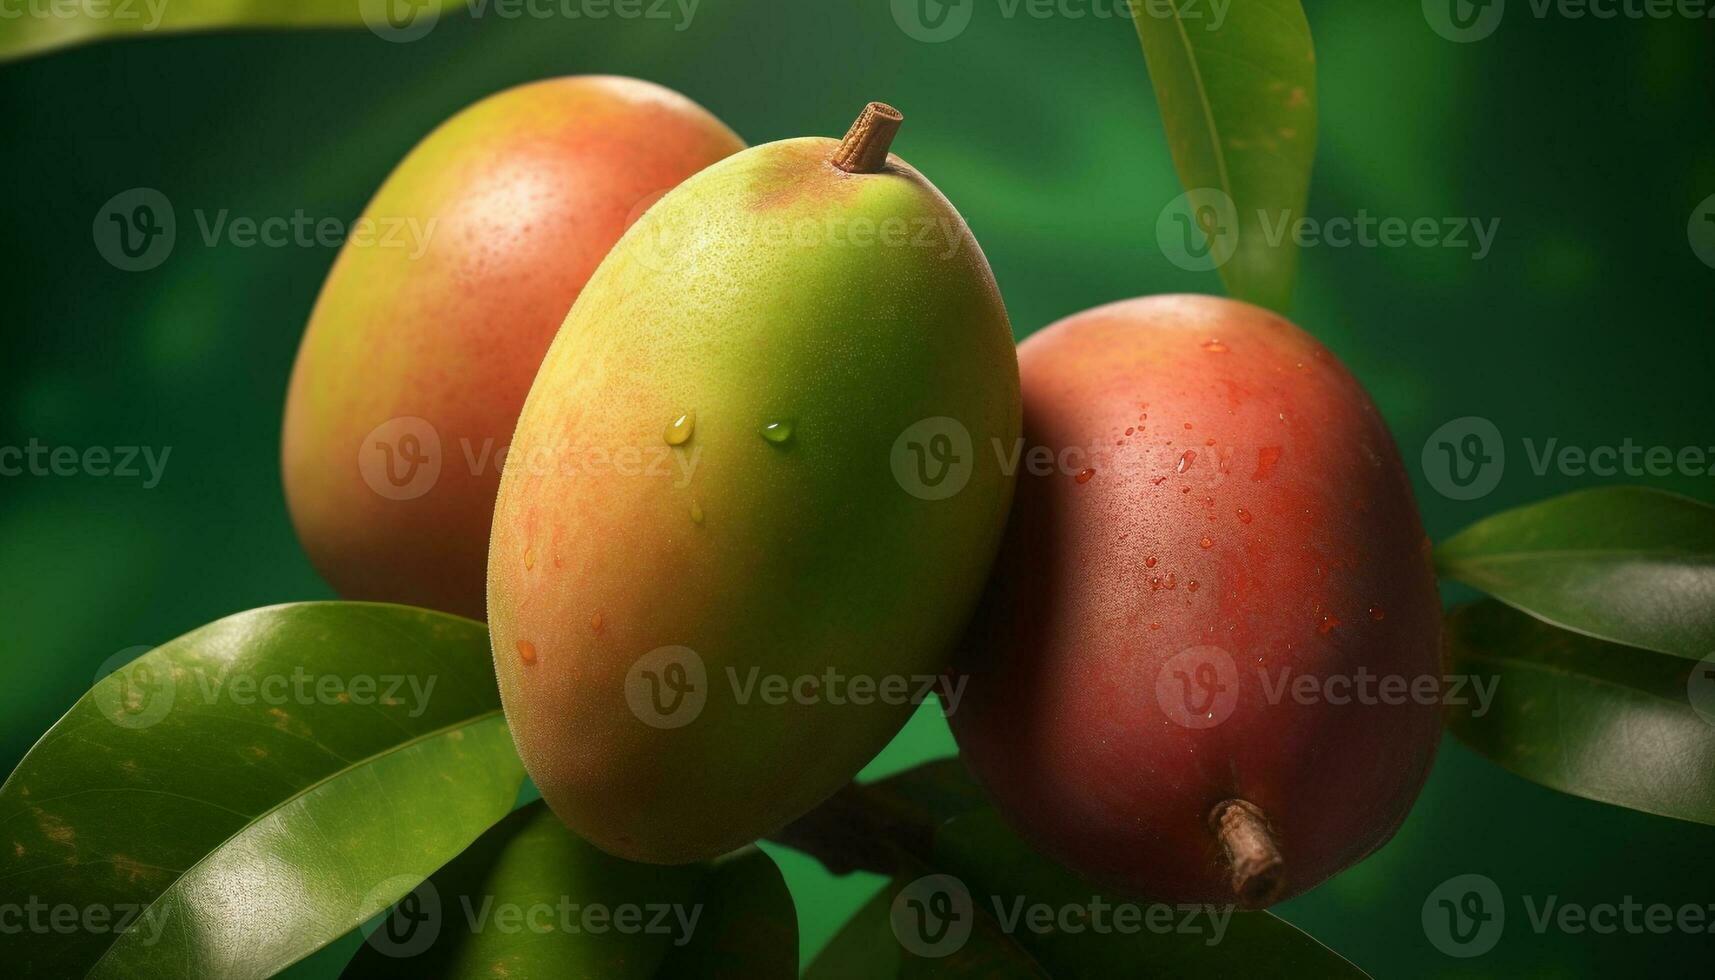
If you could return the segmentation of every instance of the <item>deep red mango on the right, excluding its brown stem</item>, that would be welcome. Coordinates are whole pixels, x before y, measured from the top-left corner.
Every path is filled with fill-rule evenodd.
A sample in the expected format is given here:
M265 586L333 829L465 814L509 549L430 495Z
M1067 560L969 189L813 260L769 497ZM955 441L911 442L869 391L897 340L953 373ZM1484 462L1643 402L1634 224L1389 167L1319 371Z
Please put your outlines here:
M1086 877L1170 903L1233 901L1209 827L1225 800L1266 814L1278 898L1381 846L1429 772L1439 709L1271 705L1257 673L1441 676L1429 542L1362 386L1285 319L1195 295L1072 316L1019 364L1026 443L1094 448L1067 469L1096 472L1020 474L959 657L948 721L1008 822ZM1211 721L1190 714L1219 705L1211 688L1171 671L1214 661L1170 662L1199 645L1237 678L1211 728L1182 724Z

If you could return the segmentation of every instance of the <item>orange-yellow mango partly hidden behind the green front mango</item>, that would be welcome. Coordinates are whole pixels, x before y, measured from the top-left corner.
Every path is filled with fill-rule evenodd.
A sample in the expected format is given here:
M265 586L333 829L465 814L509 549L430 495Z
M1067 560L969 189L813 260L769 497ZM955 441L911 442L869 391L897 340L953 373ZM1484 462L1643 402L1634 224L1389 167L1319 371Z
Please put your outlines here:
M292 523L341 596L484 616L501 460L554 331L653 196L743 146L674 91L580 76L412 149L364 211L372 240L340 251L286 395ZM388 451L439 475L401 457L393 489Z

